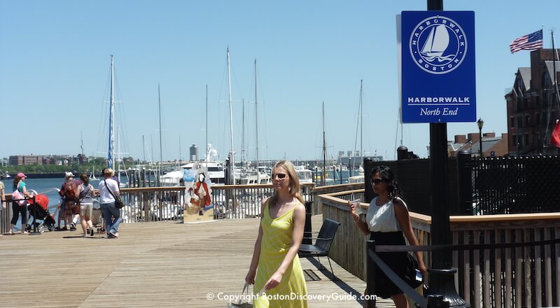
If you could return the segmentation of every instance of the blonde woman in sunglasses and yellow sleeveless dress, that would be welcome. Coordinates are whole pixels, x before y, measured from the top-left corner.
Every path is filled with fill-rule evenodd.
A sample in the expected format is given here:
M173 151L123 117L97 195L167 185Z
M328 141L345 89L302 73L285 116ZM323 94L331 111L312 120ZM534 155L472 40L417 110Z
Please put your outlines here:
M292 163L272 168L274 195L262 201L260 227L245 281L254 283L262 307L307 307L307 286L297 251L303 239L305 207ZM264 290L265 295L258 294Z

